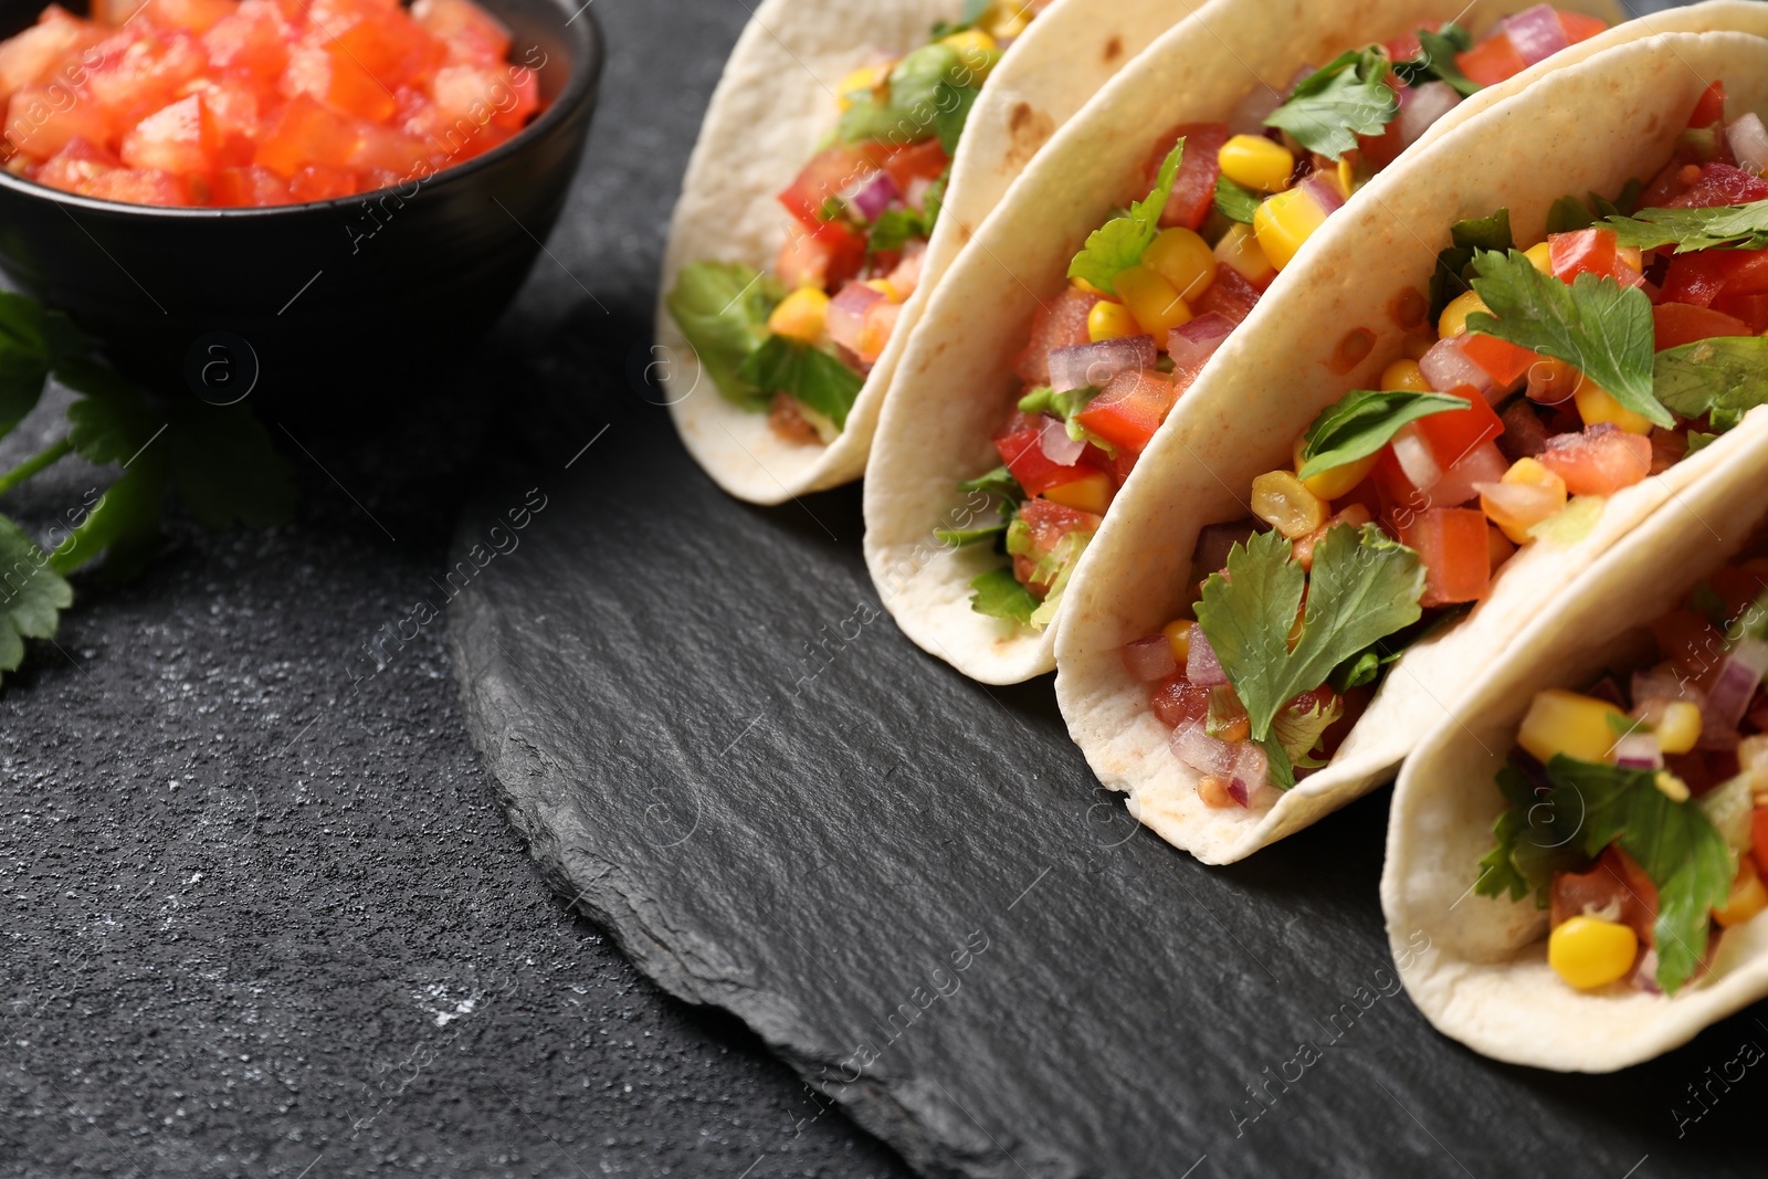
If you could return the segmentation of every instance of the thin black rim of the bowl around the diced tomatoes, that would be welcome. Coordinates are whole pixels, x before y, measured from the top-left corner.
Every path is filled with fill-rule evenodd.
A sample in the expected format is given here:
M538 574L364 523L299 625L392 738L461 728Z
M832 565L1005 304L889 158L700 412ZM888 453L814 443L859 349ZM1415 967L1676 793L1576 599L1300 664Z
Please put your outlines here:
M596 90L601 81L601 69L606 57L606 39L601 32L601 23L591 11L596 0L587 0L582 7L573 7L575 0L548 0L548 5L560 14L569 12L566 18L566 28L582 19L583 30L578 34L569 34L575 41L576 62L573 64L571 76L566 80L564 88L559 90L559 97L541 111L541 117L530 122L527 127L518 131L509 140L504 140L497 147L472 159L451 164L431 171L415 182L398 184L384 189L370 189L366 193L352 193L350 196L329 196L325 200L299 202L293 205L131 205L129 202L97 200L94 196L81 196L80 193L65 193L62 189L50 187L48 184L37 184L35 180L27 180L25 177L16 177L11 171L0 168L0 189L14 193L27 200L39 200L51 205L58 205L64 210L81 209L85 212L97 212L106 216L138 216L145 219L173 219L173 221L221 221L221 219L260 219L260 217L290 217L302 212L329 210L341 212L354 209L370 202L377 196L389 193L403 193L408 184L417 184L419 191L428 189L435 184L453 184L472 173L492 168L511 156L529 150L534 147L541 136L552 133L568 118L573 118L582 108L594 101ZM486 7L499 7L495 0L490 0ZM541 65L545 69L545 65ZM585 126L587 134L587 126ZM415 200L419 193L412 196L401 196L401 200ZM72 216L72 214L69 214Z

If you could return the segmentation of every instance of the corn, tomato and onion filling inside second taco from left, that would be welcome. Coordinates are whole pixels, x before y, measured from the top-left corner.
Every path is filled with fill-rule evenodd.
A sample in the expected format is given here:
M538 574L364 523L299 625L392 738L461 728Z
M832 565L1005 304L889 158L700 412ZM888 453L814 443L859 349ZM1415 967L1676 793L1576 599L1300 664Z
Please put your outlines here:
M1011 557L972 582L972 606L1047 626L1142 449L1303 242L1462 97L1604 28L1549 5L1478 42L1430 25L1303 69L1287 94L1261 87L1227 122L1176 127L1140 198L1040 308L994 435L1002 467L958 484L999 495L1002 520L941 541Z

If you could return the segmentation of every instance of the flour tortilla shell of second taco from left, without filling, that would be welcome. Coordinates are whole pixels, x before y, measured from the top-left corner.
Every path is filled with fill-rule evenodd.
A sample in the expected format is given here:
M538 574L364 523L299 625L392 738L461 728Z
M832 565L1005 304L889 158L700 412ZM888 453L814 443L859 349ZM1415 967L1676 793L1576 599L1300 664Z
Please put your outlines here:
M1013 359L1025 346L1040 300L1063 290L1070 260L1124 198L1130 177L1140 175L1162 143L1170 147L1163 136L1177 124L1223 120L1250 90L1280 90L1301 65L1324 64L1344 49L1457 16L1483 34L1524 7L1528 0L1482 4L1473 12L1457 0L1211 0L1057 133L934 292L879 422L866 477L866 564L884 605L914 643L988 684L1013 684L1055 666L1061 619L1038 633L971 610L971 578L997 567L1001 557L985 544L951 551L934 529L965 527L967 497L955 484L1001 463L990 435L1018 389ZM1561 7L1618 19L1605 0ZM1653 19L1687 25L1696 18L1678 12ZM1618 35L1611 30L1593 42ZM1575 60L1589 44L1551 62ZM1547 65L1464 101L1423 141L1528 87ZM1388 171L1404 168L1402 159ZM1459 171L1452 166L1452 175ZM1361 193L1328 224L1338 226L1360 203L1367 203ZM1312 240L1305 251L1321 253ZM1291 263L1261 299L1268 320L1289 299L1312 300L1310 283L1298 270L1299 263ZM1312 322L1330 322L1307 306L1298 309ZM1208 373L1220 366L1218 355L1179 405L1197 399ZM1156 463L1144 458L1140 465ZM1128 488L1112 516L1126 513L1139 513Z

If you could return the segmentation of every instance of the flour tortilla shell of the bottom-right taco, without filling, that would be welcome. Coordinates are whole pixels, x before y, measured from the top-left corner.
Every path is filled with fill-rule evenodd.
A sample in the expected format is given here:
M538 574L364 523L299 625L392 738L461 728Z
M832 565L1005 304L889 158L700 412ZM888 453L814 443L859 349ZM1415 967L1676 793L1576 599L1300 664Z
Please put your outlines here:
M1763 58L1768 51L1752 58L1754 71ZM1722 76L1731 87L1741 71ZM1471 893L1503 806L1492 778L1535 693L1582 688L1648 652L1644 628L1768 521L1768 414L1756 410L1718 445L1724 470L1683 490L1554 599L1400 774L1381 879L1388 935L1395 951L1413 951L1400 977L1437 1029L1485 1055L1602 1073L1667 1052L1768 995L1768 916L1726 930L1711 976L1674 999L1619 983L1586 993L1547 965L1547 914L1533 898ZM1423 939L1430 951L1418 955Z

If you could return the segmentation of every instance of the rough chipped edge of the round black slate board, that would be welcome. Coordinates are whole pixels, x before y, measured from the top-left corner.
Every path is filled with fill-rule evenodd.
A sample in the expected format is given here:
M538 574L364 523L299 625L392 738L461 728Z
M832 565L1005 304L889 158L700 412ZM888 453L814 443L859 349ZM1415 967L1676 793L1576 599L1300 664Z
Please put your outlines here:
M495 663L470 670L477 661L465 636L483 628L495 629L497 622L486 617L493 612L476 594L463 594L449 612L449 656L460 684L467 734L484 762L509 824L568 909L601 924L633 965L675 999L721 1008L743 1020L806 1085L838 1101L849 1117L896 1149L916 1172L934 1179L1006 1179L1011 1172L1024 1174L1004 1161L992 1142L978 1142L962 1133L965 1126L953 1126L949 1117L942 1117L948 1112L942 1103L866 1076L838 1087L822 1084L824 1073L838 1071L845 1050L819 1050L817 1045L794 1039L794 1020L780 1009L778 997L695 970L691 946L679 944L681 935L672 944L658 933L656 917L661 914L652 898L626 880L619 864L598 859L589 850L592 840L583 829L582 815L568 801L553 801L564 799L564 783L546 788L548 781L559 780L557 767L520 734L520 693L511 679ZM1071 1167L1047 1174L1052 1179L1080 1175Z

